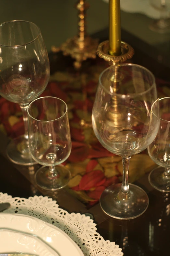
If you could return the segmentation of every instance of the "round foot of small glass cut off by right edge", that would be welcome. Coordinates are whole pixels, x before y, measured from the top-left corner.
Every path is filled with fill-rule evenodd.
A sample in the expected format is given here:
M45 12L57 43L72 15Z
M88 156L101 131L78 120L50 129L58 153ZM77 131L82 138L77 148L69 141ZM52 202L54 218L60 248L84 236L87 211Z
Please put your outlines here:
M170 192L170 176L165 176L163 167L156 167L149 174L149 183L161 192Z

